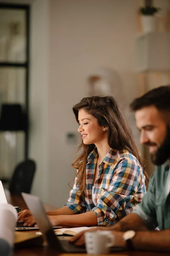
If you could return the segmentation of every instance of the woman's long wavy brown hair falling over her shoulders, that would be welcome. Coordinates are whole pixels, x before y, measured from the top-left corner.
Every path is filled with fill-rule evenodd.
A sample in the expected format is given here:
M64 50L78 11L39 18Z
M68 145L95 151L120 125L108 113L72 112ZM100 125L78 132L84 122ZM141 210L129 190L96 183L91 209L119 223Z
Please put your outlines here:
M146 178L145 184L147 187L149 176L144 170L144 164L139 155L139 149L133 139L131 129L116 100L112 96L92 96L83 98L73 107L73 112L78 123L78 113L81 109L94 116L99 126L108 127L108 145L111 148L118 150L127 149L138 159L144 171ZM73 168L78 170L77 184L79 185L79 190L82 191L83 197L86 196L86 164L88 155L94 148L94 144L85 145L82 141L77 149L79 155L71 164Z

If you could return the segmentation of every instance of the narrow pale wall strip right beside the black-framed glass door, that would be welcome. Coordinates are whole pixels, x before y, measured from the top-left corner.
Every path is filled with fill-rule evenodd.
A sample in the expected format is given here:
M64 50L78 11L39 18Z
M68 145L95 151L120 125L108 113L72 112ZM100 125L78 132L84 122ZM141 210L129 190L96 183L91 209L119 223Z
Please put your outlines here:
M31 3L29 157L37 163L32 193L48 201L49 1Z

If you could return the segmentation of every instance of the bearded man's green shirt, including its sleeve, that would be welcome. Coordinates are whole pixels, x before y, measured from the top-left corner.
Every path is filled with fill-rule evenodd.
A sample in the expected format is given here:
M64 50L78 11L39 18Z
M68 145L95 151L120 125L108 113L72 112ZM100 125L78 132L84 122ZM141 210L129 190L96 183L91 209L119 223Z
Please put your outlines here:
M170 163L157 166L150 178L146 195L134 213L139 215L150 230L170 228ZM168 189L168 191L167 191Z

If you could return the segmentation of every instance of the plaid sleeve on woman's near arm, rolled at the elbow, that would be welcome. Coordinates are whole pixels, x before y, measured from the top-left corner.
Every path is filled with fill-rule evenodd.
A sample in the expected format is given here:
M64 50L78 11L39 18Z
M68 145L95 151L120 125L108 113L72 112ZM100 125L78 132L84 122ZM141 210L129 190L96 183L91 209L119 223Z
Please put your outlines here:
M96 207L93 208L98 225L109 225L117 215L122 218L127 214L124 211L125 205L132 200L139 188L142 179L141 170L141 166L127 158L122 159L116 165L108 189L103 189L96 202ZM143 189L143 193L145 193L145 186Z

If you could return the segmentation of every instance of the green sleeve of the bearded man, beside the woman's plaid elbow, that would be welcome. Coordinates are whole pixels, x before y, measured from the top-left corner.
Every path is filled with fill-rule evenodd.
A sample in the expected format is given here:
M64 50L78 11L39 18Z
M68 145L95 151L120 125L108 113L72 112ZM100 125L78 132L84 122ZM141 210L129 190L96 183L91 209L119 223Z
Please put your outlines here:
M147 193L144 195L142 202L138 204L133 211L143 219L150 230L154 230L158 226L155 208L155 175L156 172L150 177Z

